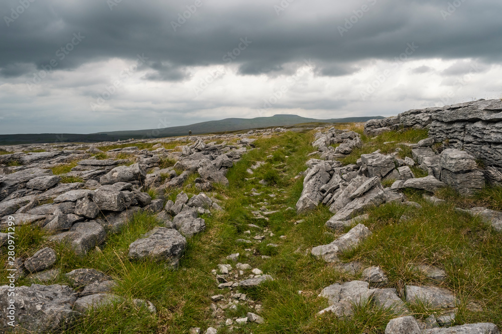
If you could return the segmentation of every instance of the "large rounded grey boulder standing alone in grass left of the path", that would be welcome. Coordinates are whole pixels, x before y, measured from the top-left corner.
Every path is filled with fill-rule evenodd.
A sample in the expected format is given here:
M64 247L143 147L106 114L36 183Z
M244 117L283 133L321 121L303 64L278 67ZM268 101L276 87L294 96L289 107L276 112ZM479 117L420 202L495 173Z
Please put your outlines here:
M154 261L178 263L185 251L187 240L174 228L156 227L129 246L129 257L133 260L150 258Z

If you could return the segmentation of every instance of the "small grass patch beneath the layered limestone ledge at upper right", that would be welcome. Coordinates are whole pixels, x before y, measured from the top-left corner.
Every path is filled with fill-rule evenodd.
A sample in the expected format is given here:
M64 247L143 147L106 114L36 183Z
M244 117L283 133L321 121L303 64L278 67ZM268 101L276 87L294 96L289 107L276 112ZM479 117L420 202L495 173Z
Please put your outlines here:
M347 157L340 159L344 165L355 164L357 159L360 158L361 154L372 153L376 150L381 150L382 154L389 154L399 150L398 156L402 159L405 157L412 157L411 148L406 145L398 145L399 143L418 143L420 140L428 137L427 130L420 129L408 129L399 131L385 132L376 137L368 137L363 134L363 127L350 127L352 131L355 131L361 135L362 147L356 148ZM384 144L385 143L385 144Z

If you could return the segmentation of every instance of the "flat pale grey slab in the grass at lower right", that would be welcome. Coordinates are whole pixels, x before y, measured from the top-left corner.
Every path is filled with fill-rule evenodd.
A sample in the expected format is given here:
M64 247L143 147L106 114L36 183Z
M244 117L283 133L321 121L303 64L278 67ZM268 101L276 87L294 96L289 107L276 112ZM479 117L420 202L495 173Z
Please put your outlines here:
M455 307L457 300L449 290L437 286L406 285L406 301L421 301L433 308L450 308Z

